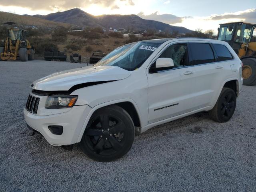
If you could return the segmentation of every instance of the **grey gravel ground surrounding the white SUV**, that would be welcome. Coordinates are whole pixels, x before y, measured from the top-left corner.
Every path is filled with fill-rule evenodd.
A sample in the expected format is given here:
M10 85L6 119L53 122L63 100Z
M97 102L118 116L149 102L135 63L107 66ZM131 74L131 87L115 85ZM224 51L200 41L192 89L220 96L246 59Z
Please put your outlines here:
M30 83L84 65L0 62L0 191L256 191L256 86L243 86L229 122L198 113L157 126L115 162L32 135L22 114Z

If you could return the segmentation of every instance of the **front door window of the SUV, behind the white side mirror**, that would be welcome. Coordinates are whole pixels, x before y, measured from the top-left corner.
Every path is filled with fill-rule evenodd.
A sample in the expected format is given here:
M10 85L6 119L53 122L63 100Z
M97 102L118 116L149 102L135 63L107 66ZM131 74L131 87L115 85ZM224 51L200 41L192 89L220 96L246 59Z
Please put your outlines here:
M174 62L174 68L187 66L187 44L171 45L158 58L171 58Z

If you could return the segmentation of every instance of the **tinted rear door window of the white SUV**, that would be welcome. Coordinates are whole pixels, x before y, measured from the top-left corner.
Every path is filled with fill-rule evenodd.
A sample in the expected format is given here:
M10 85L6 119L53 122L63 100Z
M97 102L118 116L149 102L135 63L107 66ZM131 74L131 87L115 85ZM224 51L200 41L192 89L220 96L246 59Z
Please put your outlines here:
M215 62L214 54L208 43L191 43L190 44L194 65Z

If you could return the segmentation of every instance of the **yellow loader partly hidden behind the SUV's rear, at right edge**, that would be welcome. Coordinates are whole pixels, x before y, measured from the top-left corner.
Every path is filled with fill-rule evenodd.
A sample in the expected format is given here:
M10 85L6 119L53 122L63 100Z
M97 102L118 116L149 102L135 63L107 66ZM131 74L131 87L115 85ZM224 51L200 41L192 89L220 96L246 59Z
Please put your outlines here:
M226 41L243 63L244 85L256 85L256 24L232 22L220 24L218 40Z

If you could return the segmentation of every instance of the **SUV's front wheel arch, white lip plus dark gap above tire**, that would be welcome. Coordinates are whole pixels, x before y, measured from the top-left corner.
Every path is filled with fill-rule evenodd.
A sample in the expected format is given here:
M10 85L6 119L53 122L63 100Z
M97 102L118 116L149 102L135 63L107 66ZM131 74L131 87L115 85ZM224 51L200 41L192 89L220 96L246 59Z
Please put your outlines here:
M120 100L105 102L105 103L98 104L98 105L94 106L92 108L92 110L89 112L88 116L86 117L86 119L84 121L81 132L78 136L78 140L77 140L78 143L82 139L82 136L84 134L84 130L85 130L92 114L94 114L94 112L96 112L97 110L99 110L101 108L104 108L106 106L111 106L111 105L117 105L117 106L120 106L121 108L123 108L124 110L126 110L126 112L128 112L128 114L131 116L132 121L134 122L134 126L140 127L140 125L141 125L141 115L140 115L140 111L138 109L138 106L134 102L134 100L127 98L127 99L120 99Z

